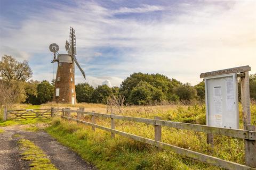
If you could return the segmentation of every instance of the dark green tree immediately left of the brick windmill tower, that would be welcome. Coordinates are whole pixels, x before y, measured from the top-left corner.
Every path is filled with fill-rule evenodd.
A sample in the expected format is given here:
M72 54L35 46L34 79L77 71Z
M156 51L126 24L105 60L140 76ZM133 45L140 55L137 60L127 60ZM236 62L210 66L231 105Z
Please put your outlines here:
M39 104L46 103L47 101L52 101L54 87L51 83L43 80L37 86L37 97Z

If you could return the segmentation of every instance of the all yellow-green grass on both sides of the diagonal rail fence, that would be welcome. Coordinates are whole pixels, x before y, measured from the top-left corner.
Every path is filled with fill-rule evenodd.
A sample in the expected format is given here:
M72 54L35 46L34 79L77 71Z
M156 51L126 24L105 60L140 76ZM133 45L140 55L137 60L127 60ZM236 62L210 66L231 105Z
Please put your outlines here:
M17 108L33 108L29 105L18 105ZM85 111L106 113L107 106L99 104L57 105L44 104L36 108L71 107L77 109L85 107ZM239 105L240 117L242 117L241 105ZM112 108L115 114L134 117L154 118L162 117L163 120L205 124L205 106L194 104L161 105L161 106L131 106L122 109ZM252 124L256 124L256 104L251 104ZM76 115L73 115L74 117ZM91 121L90 116L82 117L85 121ZM110 127L108 118L97 118L97 124ZM242 129L242 118L239 123ZM115 120L117 130L140 135L145 138L154 138L154 127L143 123ZM85 160L92 162L99 169L221 169L199 163L188 158L174 154L171 151L157 151L154 147L141 142L116 135L115 140L110 138L108 132L76 122L68 122L55 118L52 126L46 129L61 143L74 149ZM214 148L206 143L206 134L189 130L177 130L163 127L163 142L175 146L212 155L221 159L244 164L244 143L241 139L214 136Z

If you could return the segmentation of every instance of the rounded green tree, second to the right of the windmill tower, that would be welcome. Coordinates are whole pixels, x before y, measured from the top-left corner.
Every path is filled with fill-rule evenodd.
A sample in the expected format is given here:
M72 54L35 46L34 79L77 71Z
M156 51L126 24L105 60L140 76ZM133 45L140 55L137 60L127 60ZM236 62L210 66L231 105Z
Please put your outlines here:
M92 95L92 101L94 103L107 104L108 97L112 95L112 90L106 84L103 84L95 88Z

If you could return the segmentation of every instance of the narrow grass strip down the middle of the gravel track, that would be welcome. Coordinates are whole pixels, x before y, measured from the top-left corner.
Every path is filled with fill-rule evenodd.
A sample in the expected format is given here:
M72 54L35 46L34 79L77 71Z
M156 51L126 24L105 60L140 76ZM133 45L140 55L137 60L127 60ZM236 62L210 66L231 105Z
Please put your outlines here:
M37 147L33 142L21 139L18 142L20 144L19 148L22 150L22 159L31 161L31 170L54 170L57 169L51 163L50 159L44 154L43 150Z

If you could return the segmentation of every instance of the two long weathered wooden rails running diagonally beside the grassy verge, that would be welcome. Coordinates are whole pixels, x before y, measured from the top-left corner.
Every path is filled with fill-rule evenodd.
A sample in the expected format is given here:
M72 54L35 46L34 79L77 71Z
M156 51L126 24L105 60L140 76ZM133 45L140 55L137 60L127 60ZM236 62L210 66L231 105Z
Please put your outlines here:
M143 138L138 135L115 130L114 120L118 119L118 120L124 120L124 121L133 121L133 122L151 124L151 125L155 126L155 132L159 132L159 130L161 131L161 126L167 126L170 128L186 129L186 130L193 130L193 131L205 132L205 133L211 132L214 134L226 135L228 137L235 137L235 138L241 138L241 139L246 139L246 140L256 140L256 132L254 132L254 131L225 129L225 128L206 126L206 125L171 122L171 121L163 121L163 120L156 120L156 119L149 119L149 118L139 118L139 117L121 116L121 115L113 115L113 114L84 112L84 111L81 111L81 109L79 109L78 111L70 110L70 109L55 109L54 113L56 113L56 112L61 112L62 113L61 115L59 115L59 114L55 114L55 115L61 116L62 118L66 118L66 119L72 120L72 121L77 121L77 122L83 123L85 125L90 125L93 128L98 128L101 130L111 132L111 137L114 137L114 134L119 134L119 135L122 135L123 137L127 137L127 138L134 139L136 141L148 143L148 144L156 146L158 148L171 150L171 151L176 152L177 154L180 154L182 156L193 158L193 159L199 160L201 162L209 163L209 164L215 165L215 166L220 166L220 167L226 168L226 169L256 170L256 168L253 168L253 167L229 162L227 160L223 160L223 159L220 159L217 157L212 157L209 155L201 154L196 151L191 151L188 149L180 148L177 146L170 145L168 143L161 142L161 137L159 134L157 134L157 135L155 134L155 140L153 140L153 139ZM77 118L70 117L70 113L73 113L73 112L77 113ZM78 118L81 117L81 114L92 115L93 123L79 120ZM107 128L105 126L95 124L94 123L95 116L111 118L111 128Z

